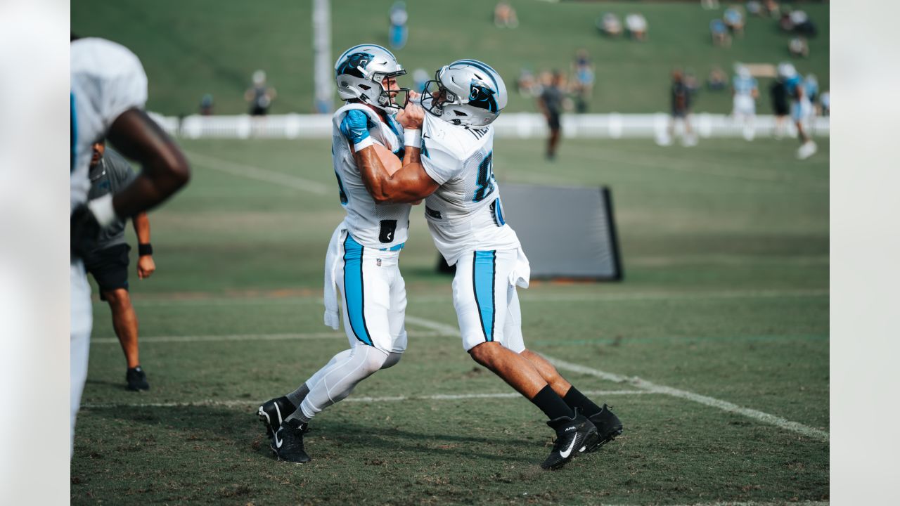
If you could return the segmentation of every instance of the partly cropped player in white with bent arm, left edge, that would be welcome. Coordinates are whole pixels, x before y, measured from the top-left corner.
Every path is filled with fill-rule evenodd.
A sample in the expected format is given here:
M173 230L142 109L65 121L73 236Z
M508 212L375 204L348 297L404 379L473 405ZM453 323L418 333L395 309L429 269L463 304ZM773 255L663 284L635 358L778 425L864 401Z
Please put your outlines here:
M70 452L87 377L92 325L91 288L82 258L96 244L100 230L162 203L190 178L181 150L143 111L147 76L130 50L103 39L73 37L71 86ZM138 160L143 169L121 191L88 201L92 145L103 138L123 155Z

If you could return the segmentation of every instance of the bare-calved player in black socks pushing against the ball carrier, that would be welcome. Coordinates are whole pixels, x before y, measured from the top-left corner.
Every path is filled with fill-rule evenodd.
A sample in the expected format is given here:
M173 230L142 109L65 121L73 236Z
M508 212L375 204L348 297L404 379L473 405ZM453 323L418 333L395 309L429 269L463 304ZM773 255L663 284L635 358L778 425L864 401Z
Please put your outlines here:
M525 347L516 286L527 287L530 268L504 221L493 175L491 122L507 104L506 86L493 68L461 59L437 70L420 104L404 111L404 120L419 111L421 142L408 142L401 169L391 175L364 150L363 178L384 206L426 199L435 245L456 266L453 298L463 347L545 412L557 438L542 466L558 468L615 438L622 424L606 404L591 402Z

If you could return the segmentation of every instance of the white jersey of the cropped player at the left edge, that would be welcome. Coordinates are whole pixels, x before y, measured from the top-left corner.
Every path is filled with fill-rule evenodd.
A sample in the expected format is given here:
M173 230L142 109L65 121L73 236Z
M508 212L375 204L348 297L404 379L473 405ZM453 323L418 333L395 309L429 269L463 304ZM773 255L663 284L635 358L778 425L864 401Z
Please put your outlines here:
M94 142L112 122L147 102L147 75L138 57L115 42L80 39L71 44L71 209L87 201Z

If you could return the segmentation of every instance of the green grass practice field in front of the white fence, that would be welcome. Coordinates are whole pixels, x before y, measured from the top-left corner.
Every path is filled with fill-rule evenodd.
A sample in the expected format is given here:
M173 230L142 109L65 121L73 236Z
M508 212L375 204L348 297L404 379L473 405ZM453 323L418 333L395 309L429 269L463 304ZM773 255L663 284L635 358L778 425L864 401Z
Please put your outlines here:
M258 403L347 346L321 324L320 302L343 212L336 187L259 176L332 188L329 143L182 145L191 185L150 217L157 274L131 276L152 389L124 390L109 311L95 301L73 504L828 500L827 140L805 162L791 140L564 140L554 164L539 142L498 140L501 185L609 185L616 206L622 283L520 291L529 348L625 423L558 472L538 467L552 431L530 402L435 398L512 391L446 329L450 278L434 272L421 208L401 256L408 352L320 413L309 465L275 461Z

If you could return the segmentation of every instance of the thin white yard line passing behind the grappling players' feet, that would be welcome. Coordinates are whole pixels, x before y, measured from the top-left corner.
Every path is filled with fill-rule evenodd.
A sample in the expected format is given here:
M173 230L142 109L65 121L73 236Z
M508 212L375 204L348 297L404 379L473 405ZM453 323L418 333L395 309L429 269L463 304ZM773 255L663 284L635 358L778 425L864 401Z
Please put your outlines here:
M587 395L601 395L604 397L611 395L647 395L654 392L645 390L592 390L584 392ZM389 397L347 397L341 402L401 402L401 401L461 401L464 399L518 399L521 394L517 392L504 393L456 393L445 394L436 393L434 395L394 395ZM184 408L190 406L258 406L260 400L229 400L214 401L211 399L203 399L201 401L192 402L85 402L81 405L84 409L107 409L107 408Z

